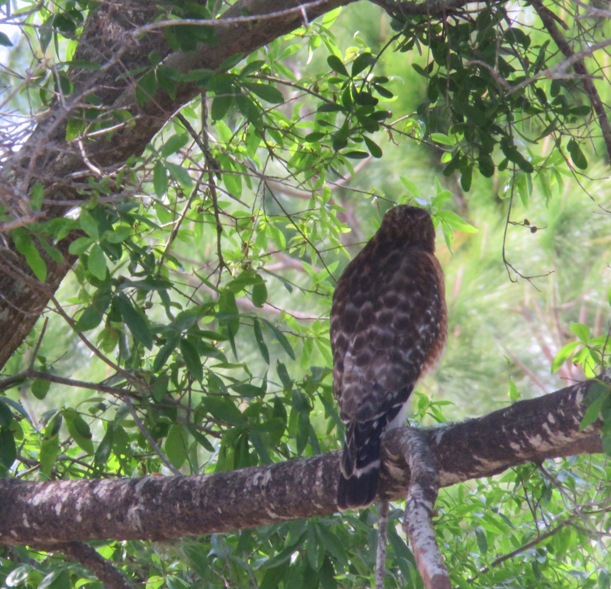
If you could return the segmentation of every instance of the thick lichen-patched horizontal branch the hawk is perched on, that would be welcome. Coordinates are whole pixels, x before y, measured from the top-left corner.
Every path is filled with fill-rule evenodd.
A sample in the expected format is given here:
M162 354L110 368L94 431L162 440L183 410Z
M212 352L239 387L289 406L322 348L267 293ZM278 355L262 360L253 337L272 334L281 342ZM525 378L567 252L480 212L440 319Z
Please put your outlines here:
M425 431L441 486L518 464L601 451L598 421L579 431L590 382L485 417ZM381 496L404 498L405 430L384 441ZM93 539L162 540L229 532L337 511L339 452L201 476L53 481L0 480L0 544Z

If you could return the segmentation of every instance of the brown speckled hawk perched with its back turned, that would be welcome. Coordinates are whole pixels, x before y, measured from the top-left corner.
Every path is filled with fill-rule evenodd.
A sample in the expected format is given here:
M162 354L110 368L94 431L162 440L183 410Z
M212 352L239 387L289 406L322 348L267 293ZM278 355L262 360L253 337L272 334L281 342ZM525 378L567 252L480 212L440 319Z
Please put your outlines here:
M335 288L333 391L346 424L337 491L342 510L373 502L381 437L405 424L409 395L444 351L444 275L434 251L428 213L393 207Z

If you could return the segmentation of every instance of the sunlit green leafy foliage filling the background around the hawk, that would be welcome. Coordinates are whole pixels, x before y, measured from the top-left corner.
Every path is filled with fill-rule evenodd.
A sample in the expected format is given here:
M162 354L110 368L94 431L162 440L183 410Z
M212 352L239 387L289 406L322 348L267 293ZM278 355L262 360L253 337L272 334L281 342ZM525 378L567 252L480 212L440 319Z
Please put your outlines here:
M207 23L161 28L170 48L213 45L219 3L204 4L159 9L159 21ZM23 84L0 72L15 87L16 112L70 98L75 72L100 68L72 61L90 9L42 2L13 13L22 35L9 54L13 67L27 69L32 51ZM508 382L512 401L533 384L552 390L550 364L566 380L606 366L601 284L607 290L609 279L606 244L596 245L608 237L606 219L590 223L589 201L565 194L593 160L590 98L574 78L542 75L559 57L539 21L527 26L535 18L528 6L516 15L488 4L447 19L382 17L392 34L352 36L356 18L368 27L380 15L373 6L341 17L334 10L214 71L183 73L153 52L125 73L141 108L185 84L202 94L125 166L75 180L81 200L70 212L10 232L40 281L45 259L59 261L58 243L75 232L69 251L78 262L0 381L2 475L218 472L339 448L331 295L346 249L358 249L395 203L430 210L448 278L453 335L437 384L426 383L432 398L415 395L416 419L492 409L507 402ZM607 29L569 22L592 39ZM2 45L11 39L0 34ZM421 88L417 103L408 97L413 86ZM65 140L87 144L108 133L112 141L114 126L133 116L106 105L100 89L70 111ZM14 113L5 117L19 143L29 128ZM29 187L34 212L45 204L43 180ZM608 205L607 183L596 197ZM571 207L587 226L566 221L577 214ZM557 275L524 280L530 269ZM551 350L560 350L555 360ZM501 393L488 400L491 388ZM468 399L466 390L481 394ZM592 420L607 408L608 391L599 399ZM593 457L444 491L437 534L453 582L609 587L608 479L606 462ZM399 518L392 511L392 522ZM147 587L362 587L371 583L375 524L370 508L97 549ZM387 586L422 587L398 529L389 532ZM26 549L4 549L0 565L7 587L101 586L81 565Z

